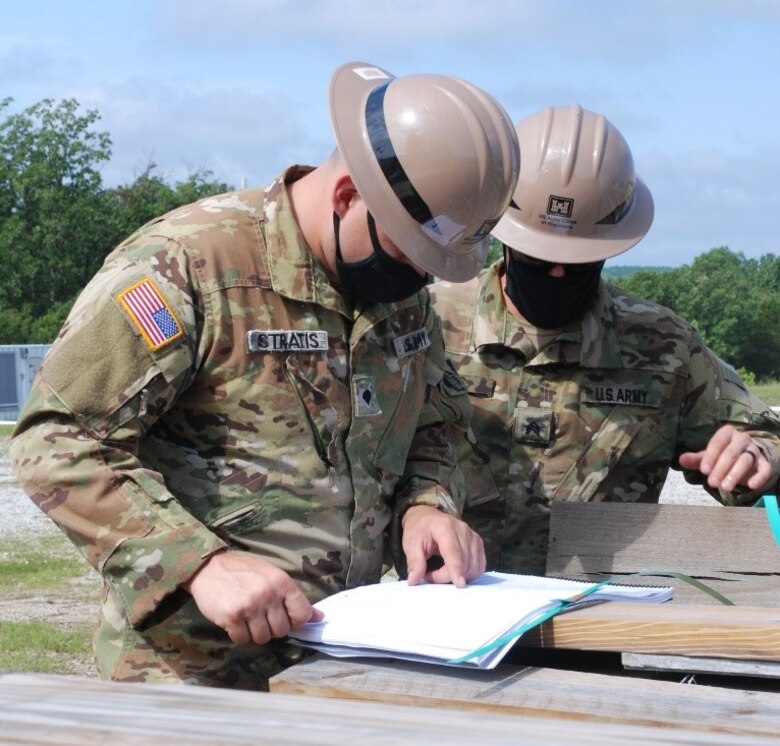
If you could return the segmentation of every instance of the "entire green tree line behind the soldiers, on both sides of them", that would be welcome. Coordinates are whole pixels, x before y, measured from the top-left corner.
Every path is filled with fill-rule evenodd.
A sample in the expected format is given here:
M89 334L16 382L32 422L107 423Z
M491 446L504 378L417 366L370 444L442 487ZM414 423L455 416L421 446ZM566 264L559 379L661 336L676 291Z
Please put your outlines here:
M54 340L105 256L152 218L230 191L206 170L168 183L148 163L106 187L111 137L97 111L74 99L12 113L0 99L0 344ZM488 261L500 256L492 241ZM668 306L724 360L757 380L780 378L780 259L746 259L727 247L690 265L615 273L608 281Z

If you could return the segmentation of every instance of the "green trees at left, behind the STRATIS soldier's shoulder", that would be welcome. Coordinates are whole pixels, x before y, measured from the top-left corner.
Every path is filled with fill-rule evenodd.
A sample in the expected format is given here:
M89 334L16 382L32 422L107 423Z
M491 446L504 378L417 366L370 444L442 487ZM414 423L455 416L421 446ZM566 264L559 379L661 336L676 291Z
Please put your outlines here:
M144 223L200 197L229 191L205 170L167 183L148 163L107 188L111 138L96 111L44 99L10 113L0 100L0 344L54 340L105 256Z

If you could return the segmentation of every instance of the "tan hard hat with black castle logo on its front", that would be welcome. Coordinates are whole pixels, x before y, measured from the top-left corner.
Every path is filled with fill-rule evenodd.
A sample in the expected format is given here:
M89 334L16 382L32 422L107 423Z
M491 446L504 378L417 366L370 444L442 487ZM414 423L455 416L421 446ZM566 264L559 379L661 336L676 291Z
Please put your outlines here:
M537 259L578 264L638 243L653 198L628 144L579 105L548 107L516 125L522 163L512 202L493 235Z

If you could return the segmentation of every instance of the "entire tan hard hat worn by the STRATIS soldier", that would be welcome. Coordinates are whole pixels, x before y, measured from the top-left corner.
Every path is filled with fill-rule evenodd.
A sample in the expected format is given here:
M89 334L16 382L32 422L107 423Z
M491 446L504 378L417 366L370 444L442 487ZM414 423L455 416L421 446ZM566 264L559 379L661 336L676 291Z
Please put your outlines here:
M504 109L459 78L350 62L331 79L330 114L355 186L393 243L437 277L474 277L517 181Z

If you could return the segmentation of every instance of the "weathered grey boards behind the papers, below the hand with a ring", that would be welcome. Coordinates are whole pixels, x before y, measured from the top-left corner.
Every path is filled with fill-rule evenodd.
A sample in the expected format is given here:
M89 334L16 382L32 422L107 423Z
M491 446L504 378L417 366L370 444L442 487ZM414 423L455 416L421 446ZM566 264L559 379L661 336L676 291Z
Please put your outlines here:
M780 607L780 548L766 512L719 506L555 503L546 574L601 580L646 570L690 575L743 606ZM672 585L676 603L719 602Z

